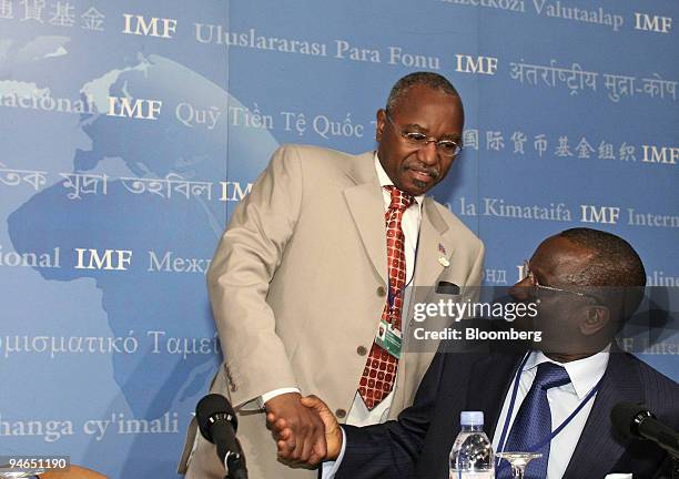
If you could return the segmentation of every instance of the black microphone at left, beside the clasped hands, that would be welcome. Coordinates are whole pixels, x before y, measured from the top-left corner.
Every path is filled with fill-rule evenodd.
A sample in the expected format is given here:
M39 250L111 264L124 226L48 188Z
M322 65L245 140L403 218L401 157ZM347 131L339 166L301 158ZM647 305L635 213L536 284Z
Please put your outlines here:
M239 420L229 400L222 395L210 394L196 405L195 417L201 435L216 445L217 456L226 467L227 477L247 479L245 458L235 438Z

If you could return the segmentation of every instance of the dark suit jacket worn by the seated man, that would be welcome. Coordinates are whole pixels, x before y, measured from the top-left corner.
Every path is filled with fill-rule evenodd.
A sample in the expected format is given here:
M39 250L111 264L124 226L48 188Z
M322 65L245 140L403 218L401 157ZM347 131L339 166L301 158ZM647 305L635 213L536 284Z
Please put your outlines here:
M366 428L343 426L347 445L337 479L448 478L448 453L460 430L459 412L483 410L489 438L523 355L439 353L397 421ZM625 440L610 425L619 401L643 402L658 420L679 428L679 385L636 357L611 349L608 367L564 479L670 477L667 455L648 441Z

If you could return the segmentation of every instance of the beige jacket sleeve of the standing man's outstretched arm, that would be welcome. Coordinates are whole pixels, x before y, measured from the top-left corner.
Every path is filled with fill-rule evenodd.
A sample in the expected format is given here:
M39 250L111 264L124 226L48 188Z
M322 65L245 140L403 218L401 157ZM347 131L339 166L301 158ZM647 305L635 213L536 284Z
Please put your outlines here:
M302 196L300 152L283 146L234 210L207 273L235 407L296 386L266 296L294 232Z

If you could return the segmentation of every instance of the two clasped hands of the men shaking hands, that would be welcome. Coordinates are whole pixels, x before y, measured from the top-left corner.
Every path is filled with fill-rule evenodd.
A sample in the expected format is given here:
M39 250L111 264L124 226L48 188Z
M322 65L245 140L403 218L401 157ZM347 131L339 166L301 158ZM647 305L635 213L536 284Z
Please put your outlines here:
M288 393L270 399L266 422L276 440L278 459L288 466L316 466L340 456L342 429L316 396Z

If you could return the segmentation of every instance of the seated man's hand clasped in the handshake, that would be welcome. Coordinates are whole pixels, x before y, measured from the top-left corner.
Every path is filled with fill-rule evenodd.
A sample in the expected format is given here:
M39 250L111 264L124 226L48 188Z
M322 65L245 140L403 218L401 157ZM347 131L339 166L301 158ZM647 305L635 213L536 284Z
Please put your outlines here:
M313 456L314 462L307 461L306 465L315 465L318 461L324 460L335 460L340 456L340 451L342 450L342 430L340 429L340 424L335 418L335 415L330 410L327 405L318 399L316 396L307 396L302 398L301 402L317 414L323 420L323 425L325 427L325 441L327 445L326 451L324 455L318 458L315 457L315 451ZM267 420L272 425L272 428L278 439L278 457L284 460L288 460L291 458L292 449L290 448L290 442L295 441L293 430L287 427L285 419L276 419L275 417L267 415Z

